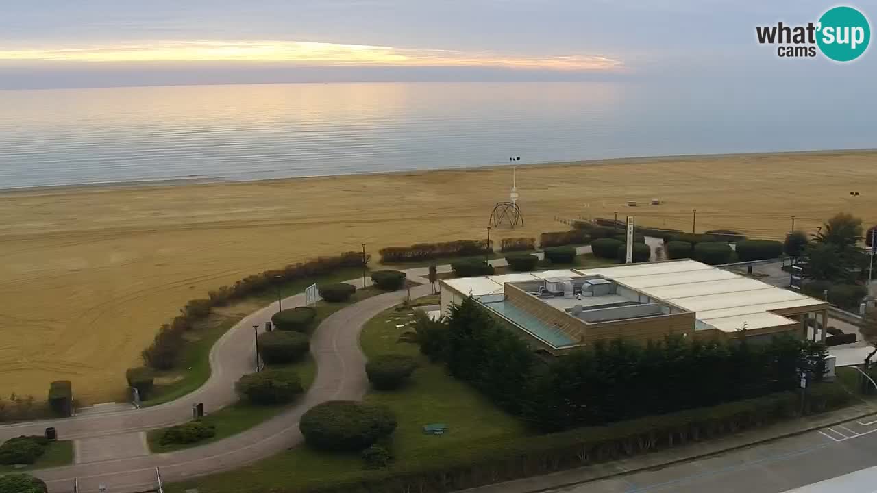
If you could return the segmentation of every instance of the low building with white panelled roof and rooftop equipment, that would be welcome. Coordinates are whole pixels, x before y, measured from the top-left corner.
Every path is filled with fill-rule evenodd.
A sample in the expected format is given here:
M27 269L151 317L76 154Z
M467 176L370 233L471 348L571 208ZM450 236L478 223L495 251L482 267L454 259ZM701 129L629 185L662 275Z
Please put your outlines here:
M552 354L599 339L660 339L668 333L742 333L752 341L782 332L803 337L809 318L827 325L829 308L822 300L690 260L463 277L441 285L444 313L475 297ZM824 331L817 337L824 339Z

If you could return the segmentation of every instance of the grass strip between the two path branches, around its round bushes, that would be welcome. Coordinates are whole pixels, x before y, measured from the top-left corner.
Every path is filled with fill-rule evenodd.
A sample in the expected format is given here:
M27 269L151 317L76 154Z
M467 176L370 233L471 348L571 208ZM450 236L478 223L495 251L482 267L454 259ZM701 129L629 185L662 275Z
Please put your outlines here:
M358 291L356 291L353 297L351 297L350 301L346 303L326 303L324 301L317 302L317 318L315 321L315 326L326 317L332 315L332 313L335 313L336 311L339 311L346 306L350 306L351 304L360 302L366 298L379 295L382 292L383 291L381 291L380 289L368 287L366 289L359 289ZM305 390L310 388L310 384L314 382L314 377L317 375L317 365L314 362L313 358L310 356L310 354L308 354L307 358L305 358L303 361L272 368L289 368L295 370L301 377L302 386ZM287 409L289 405L294 404L260 406L240 401L219 411L209 412L207 416L204 417L204 421L216 425L217 434L211 439L202 440L196 443L170 444L167 446L162 446L159 443L159 439L161 437L161 433L164 432L164 428L147 432L146 439L149 443L149 448L154 453L171 452L174 450L179 450L181 448L198 447L210 443L211 441L225 439L239 432L244 432L255 425L259 425L267 419L274 418L283 410Z

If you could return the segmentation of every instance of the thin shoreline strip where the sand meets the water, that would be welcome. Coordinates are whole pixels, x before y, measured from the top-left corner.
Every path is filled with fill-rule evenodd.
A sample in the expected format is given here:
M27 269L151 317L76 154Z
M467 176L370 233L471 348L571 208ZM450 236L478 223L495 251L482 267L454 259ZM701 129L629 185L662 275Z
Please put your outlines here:
M228 179L221 177L177 177L177 178L156 178L156 179L139 179L127 182L90 182L90 183L72 183L58 185L34 185L26 187L16 187L11 189L0 188L0 197L28 195L33 193L64 193L79 191L103 191L116 189L159 189L167 187L179 187L186 185L216 185L216 184L236 184L236 183L280 183L291 182L296 180L309 180L321 178L333 178L341 176L418 176L429 173L441 172L460 172L460 171L496 171L498 169L514 166L517 168L564 168L564 167L602 167L612 165L629 165L629 164L648 164L660 163L667 161L700 161L700 160L723 160L738 158L769 158L769 157L788 157L794 155L806 157L818 156L841 156L850 154L877 154L877 147L851 148L851 149L813 149L807 151L774 151L774 152L755 152L755 153L732 153L732 154L674 154L674 155L658 155L658 156L631 156L624 158L606 158L594 160L575 160L575 161L540 161L527 162L524 164L489 164L484 166L464 166L460 168L429 168L429 169L399 169L396 171L363 171L360 173L345 173L342 175L301 175L301 176L285 176L281 178L253 178L246 179Z

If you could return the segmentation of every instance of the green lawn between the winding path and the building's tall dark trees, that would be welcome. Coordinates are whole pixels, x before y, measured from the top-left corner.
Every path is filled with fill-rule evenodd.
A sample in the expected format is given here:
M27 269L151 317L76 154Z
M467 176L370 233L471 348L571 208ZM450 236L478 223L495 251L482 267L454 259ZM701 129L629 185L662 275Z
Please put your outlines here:
M367 402L386 404L396 412L398 426L392 441L396 456L405 461L428 461L439 449L461 447L472 440L523 436L524 426L515 418L496 409L466 383L448 376L444 368L424 358L417 346L397 342L400 334L410 330L406 323L411 319L412 314L407 310L383 311L367 323L360 337L360 346L367 356L410 354L421 364L403 389L372 391L366 397ZM425 435L423 426L431 423L445 423L448 432L441 436ZM389 470L392 471L392 466ZM295 491L363 474L358 454L325 454L299 446L232 472L175 483L166 490L172 493L182 493L189 488L210 493Z

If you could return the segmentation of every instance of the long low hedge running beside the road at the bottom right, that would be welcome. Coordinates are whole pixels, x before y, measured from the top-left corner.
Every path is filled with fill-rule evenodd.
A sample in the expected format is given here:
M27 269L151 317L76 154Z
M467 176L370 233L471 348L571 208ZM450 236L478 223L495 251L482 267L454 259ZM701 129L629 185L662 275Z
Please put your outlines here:
M633 419L605 426L527 436L493 437L458 447L437 448L429 461L396 460L392 470L367 471L332 482L321 478L304 491L417 491L445 493L522 477L546 475L592 464L666 450L747 429L770 425L799 413L812 414L847 404L838 384L809 387L805 405L796 392L781 392L714 407Z

